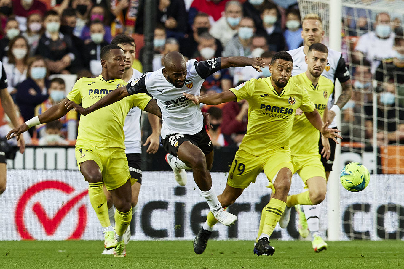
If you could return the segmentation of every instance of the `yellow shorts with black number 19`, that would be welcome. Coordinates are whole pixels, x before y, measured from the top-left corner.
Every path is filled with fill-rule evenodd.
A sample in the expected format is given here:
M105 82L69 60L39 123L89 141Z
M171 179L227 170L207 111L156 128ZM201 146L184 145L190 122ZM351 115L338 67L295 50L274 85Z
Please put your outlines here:
M288 149L271 150L261 156L255 156L239 149L231 164L227 184L233 188L245 189L250 183L255 183L258 174L264 171L269 180L267 187L275 192L272 179L282 168L289 168L290 171L293 171Z

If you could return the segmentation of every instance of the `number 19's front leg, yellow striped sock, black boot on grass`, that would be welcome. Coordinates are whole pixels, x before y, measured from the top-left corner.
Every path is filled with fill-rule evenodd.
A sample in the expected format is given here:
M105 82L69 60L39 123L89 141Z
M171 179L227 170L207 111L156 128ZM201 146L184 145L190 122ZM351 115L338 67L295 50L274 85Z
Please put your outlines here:
M279 170L275 179L272 180L275 193L269 203L265 206L265 210L261 218L265 217L263 223L262 233L258 235L257 244L254 247L254 254L259 255L273 255L275 248L269 245L269 237L275 229L283 211L286 207L286 197L290 189L290 181L292 179L292 171L289 168L282 168Z

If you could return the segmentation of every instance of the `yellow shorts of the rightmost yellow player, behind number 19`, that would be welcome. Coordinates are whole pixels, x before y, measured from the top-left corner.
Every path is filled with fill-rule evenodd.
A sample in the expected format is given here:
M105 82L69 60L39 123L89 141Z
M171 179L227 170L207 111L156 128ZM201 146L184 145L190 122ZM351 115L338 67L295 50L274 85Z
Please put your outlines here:
M326 178L323 163L321 162L320 154L310 154L303 156L292 156L293 173L298 173L303 183L304 188L308 188L306 181L312 177Z

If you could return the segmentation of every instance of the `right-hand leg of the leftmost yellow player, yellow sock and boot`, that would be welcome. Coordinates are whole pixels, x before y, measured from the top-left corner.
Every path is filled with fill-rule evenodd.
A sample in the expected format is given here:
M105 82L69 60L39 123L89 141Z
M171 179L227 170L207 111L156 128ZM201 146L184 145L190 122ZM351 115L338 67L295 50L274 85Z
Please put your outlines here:
M114 250L115 257L124 257L125 252L125 242L123 240L123 235L130 220L132 219L132 187L130 185L130 179L126 181L122 186L109 191L114 200L115 210L115 233L117 235L116 241L117 246Z

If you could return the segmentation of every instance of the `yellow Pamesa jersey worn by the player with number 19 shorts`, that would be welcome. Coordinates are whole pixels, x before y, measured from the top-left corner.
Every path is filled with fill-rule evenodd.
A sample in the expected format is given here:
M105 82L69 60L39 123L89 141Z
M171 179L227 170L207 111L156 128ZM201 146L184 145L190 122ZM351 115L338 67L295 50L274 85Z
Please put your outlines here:
M289 137L297 108L313 112L315 107L303 88L288 82L278 94L270 77L251 79L230 89L237 101L248 101L247 133L240 148L260 156L269 150L289 148Z

